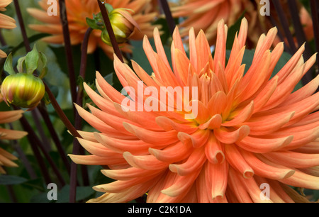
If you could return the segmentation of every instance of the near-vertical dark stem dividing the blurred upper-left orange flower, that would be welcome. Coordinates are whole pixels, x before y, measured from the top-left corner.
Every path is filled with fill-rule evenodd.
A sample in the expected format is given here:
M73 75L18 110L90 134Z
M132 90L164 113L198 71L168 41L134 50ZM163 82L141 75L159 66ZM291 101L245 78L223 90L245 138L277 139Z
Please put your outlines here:
M60 6L60 19L61 19L61 25L62 25L62 31L63 31L63 38L65 42L65 54L67 55L67 68L69 72L69 84L71 89L71 97L72 97L72 102L74 102L77 99L77 85L76 85L75 71L74 71L74 65L73 65L71 39L69 36L69 23L67 21L67 7L65 6L65 0L60 0L59 6Z

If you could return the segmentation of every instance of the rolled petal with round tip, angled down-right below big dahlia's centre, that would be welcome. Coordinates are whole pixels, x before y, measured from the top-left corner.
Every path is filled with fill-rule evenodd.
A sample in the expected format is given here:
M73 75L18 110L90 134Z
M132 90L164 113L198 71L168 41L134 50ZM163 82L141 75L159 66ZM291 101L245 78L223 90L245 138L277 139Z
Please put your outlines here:
M247 164L245 158L233 144L225 144L225 158L245 179L249 179L254 175L252 167Z

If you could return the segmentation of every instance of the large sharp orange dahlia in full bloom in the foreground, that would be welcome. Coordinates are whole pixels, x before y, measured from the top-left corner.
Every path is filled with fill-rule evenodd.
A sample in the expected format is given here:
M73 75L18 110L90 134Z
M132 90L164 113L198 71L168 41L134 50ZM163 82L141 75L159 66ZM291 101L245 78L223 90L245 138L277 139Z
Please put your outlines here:
M90 155L70 157L78 164L106 165L101 172L116 180L95 186L105 194L89 202L127 202L146 192L147 202L293 202L299 194L288 186L319 189L319 93L313 94L319 76L293 91L315 55L304 62L302 46L272 77L284 50L283 43L269 50L277 31L272 28L259 38L244 73L247 29L244 18L227 63L223 20L214 57L203 31L196 36L191 28L187 55L176 29L172 69L155 29L157 52L147 36L143 41L152 76L136 62L130 69L115 57L116 74L130 98L99 73L99 94L84 84L99 109L77 110L99 132L80 131L79 142ZM198 94L187 94L186 87ZM167 98L156 101L156 91ZM180 109L179 101L186 106Z

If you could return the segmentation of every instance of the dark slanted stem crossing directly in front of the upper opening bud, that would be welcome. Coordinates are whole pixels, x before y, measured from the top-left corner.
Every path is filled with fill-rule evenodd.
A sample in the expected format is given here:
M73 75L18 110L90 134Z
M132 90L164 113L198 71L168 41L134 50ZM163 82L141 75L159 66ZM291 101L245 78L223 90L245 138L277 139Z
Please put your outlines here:
M116 42L116 37L114 35L113 28L111 26L111 21L108 18L108 11L106 11L106 7L104 6L104 4L100 0L97 0L97 1L98 1L99 8L100 8L100 11L101 11L101 14L103 17L104 24L106 26L106 30L108 30L108 35L110 36L113 50L114 50L116 56L118 57L118 59L120 59L122 62L124 62L121 50L120 50L120 48L118 48L118 43Z

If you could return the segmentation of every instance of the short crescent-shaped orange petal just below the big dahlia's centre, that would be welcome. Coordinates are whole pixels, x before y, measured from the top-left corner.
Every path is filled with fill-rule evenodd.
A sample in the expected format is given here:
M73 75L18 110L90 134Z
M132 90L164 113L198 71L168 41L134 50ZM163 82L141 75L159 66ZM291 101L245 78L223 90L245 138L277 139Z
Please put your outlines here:
M250 133L250 128L248 126L241 126L233 131L228 130L228 128L217 128L214 130L214 135L221 143L231 144L239 142L245 138Z

